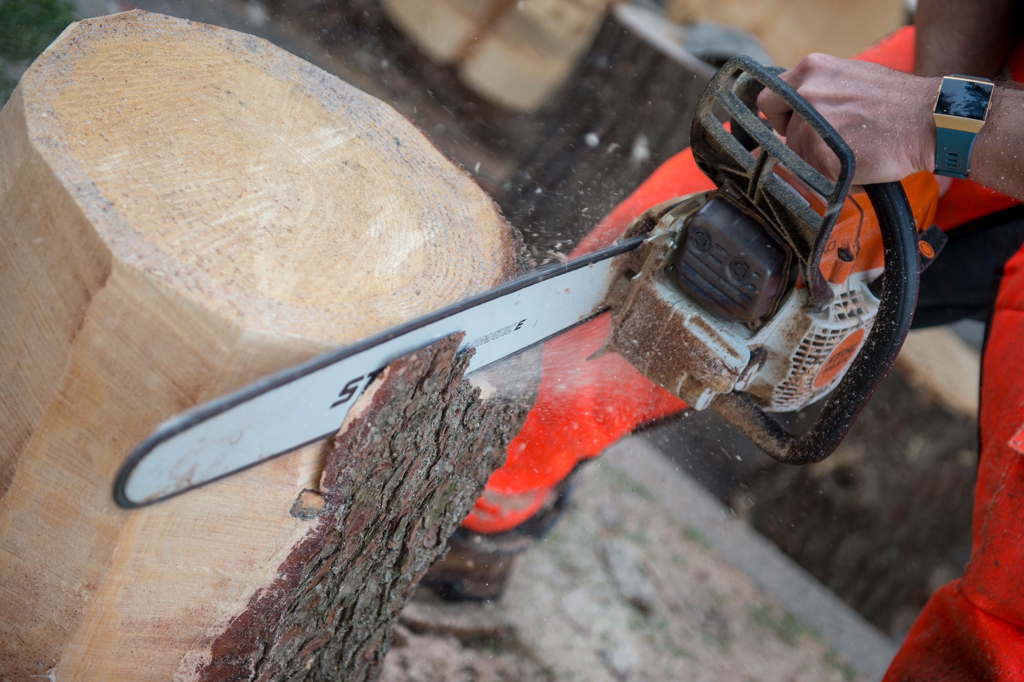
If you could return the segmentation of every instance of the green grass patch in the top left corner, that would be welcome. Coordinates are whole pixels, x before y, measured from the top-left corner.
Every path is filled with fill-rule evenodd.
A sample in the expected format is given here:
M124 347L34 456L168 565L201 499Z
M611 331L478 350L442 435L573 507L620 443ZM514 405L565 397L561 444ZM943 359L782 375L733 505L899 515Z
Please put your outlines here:
M0 0L0 105L35 59L78 16L68 0Z

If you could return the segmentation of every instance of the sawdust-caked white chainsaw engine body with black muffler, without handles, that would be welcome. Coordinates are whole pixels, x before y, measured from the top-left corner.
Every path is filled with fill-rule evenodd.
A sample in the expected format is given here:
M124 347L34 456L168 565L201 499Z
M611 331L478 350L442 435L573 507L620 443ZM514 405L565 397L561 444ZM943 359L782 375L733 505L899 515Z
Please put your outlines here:
M817 400L843 378L879 309L868 284L881 268L829 283L833 299L816 311L792 274L790 247L721 191L676 200L645 244L618 258L606 347L696 410L731 391L768 412Z

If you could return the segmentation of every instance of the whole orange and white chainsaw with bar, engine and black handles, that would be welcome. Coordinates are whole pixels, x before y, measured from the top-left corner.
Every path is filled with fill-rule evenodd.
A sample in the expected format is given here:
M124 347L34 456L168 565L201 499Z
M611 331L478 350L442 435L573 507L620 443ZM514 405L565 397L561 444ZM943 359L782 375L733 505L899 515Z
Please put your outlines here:
M892 367L913 316L921 254L934 257L942 236L928 230L920 239L929 248L919 243L898 182L865 186L869 207L848 202L852 151L781 72L737 56L705 90L690 143L717 189L648 209L609 247L164 422L121 467L116 502L152 504L323 439L389 363L452 334L464 334L460 352L473 351L473 372L605 311L611 333L598 353L617 352L690 408L716 410L777 460L824 459ZM837 156L835 181L757 113L765 87ZM728 127L717 115L723 110ZM859 230L872 208L884 262L858 266L858 235L834 227L843 211L859 211ZM769 414L825 394L799 436Z

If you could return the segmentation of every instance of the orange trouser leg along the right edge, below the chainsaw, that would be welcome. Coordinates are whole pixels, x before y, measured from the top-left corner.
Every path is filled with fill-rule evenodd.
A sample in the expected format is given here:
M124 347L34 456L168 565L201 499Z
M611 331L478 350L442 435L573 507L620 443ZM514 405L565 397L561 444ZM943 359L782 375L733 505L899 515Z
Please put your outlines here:
M1024 251L1005 266L982 366L974 543L883 682L1024 680Z

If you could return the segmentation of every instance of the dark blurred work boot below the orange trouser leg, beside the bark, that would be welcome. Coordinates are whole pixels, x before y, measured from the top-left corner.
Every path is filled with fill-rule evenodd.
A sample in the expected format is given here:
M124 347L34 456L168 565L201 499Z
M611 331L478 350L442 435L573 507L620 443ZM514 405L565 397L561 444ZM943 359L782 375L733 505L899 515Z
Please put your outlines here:
M430 567L421 585L451 601L501 597L515 558L543 540L565 512L579 470L580 465L549 494L539 511L514 528L488 534L460 526L449 538L447 554Z

